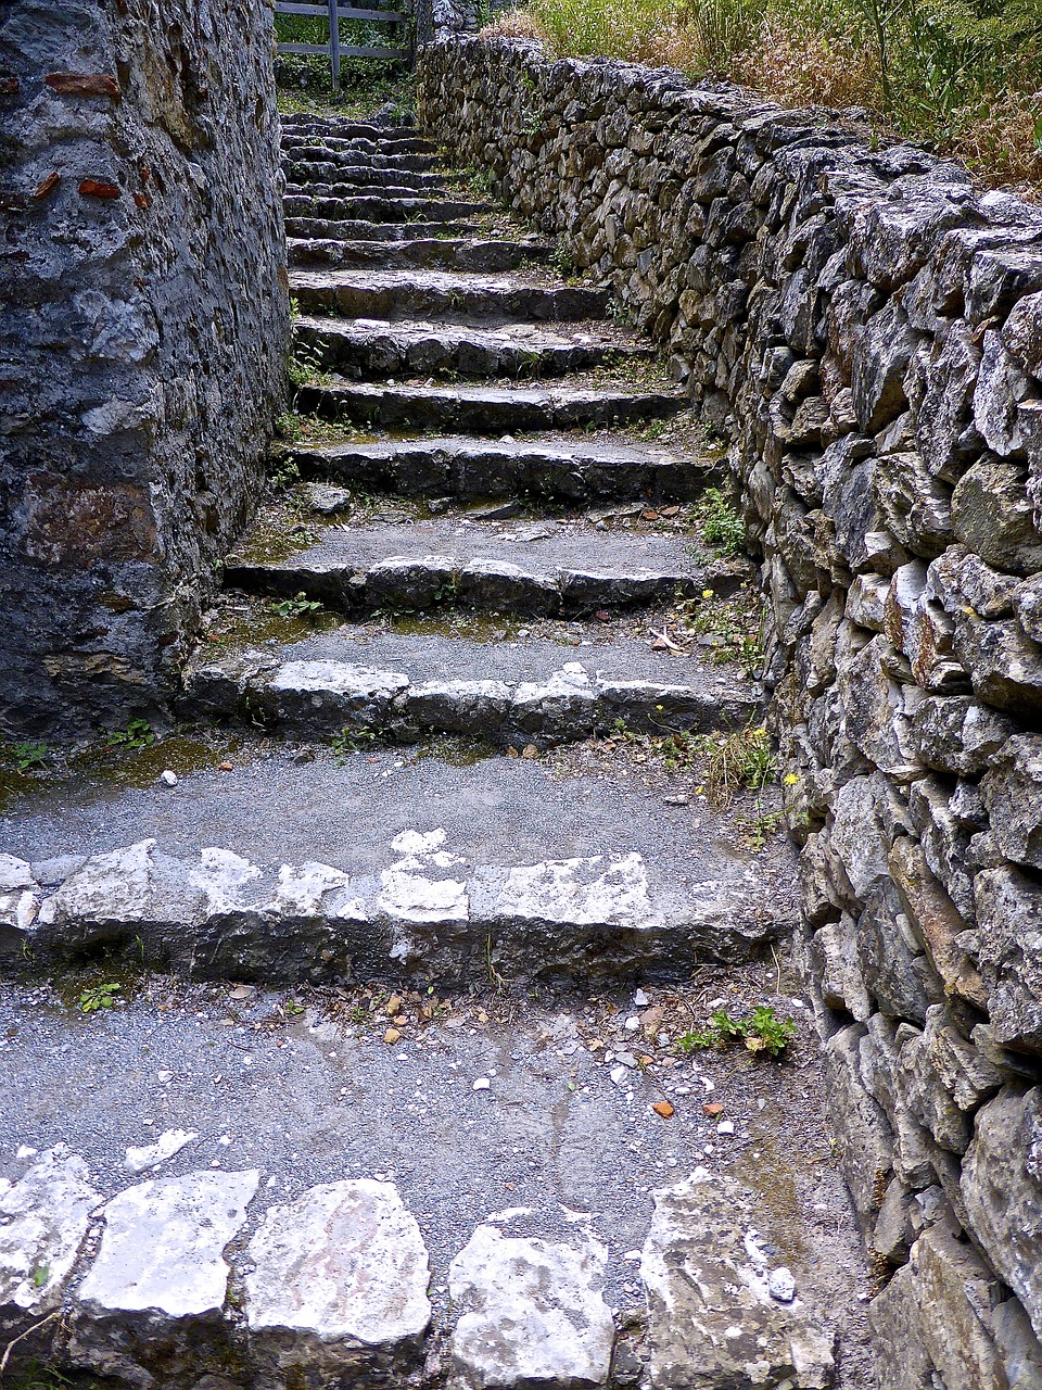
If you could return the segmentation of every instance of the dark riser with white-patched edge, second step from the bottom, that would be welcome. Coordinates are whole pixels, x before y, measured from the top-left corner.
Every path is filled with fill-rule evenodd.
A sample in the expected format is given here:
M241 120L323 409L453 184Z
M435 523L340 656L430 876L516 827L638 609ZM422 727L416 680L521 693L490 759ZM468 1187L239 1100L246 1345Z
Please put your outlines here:
M600 869L602 876L611 866L609 856L600 865L586 863L593 873ZM460 878L446 892L449 876L422 863L410 890L424 898L429 894L427 909L417 903L413 910L395 910L381 892L381 880L371 876L326 890L307 906L286 903L276 897L275 876L268 874L267 881L250 884L245 895L249 906L207 908L200 892L186 917L185 880L192 867L197 870L199 863L168 860L157 866L140 910L128 903L115 919L99 920L82 915L82 909L58 912L54 922L38 919L24 934L22 949L44 970L63 963L82 966L85 958L104 956L107 965L125 962L139 970L268 987L352 981L486 987L490 965L511 986L603 986L638 977L675 981L688 977L699 962L754 959L791 926L763 920L763 908L752 892L728 885L724 894L716 884L693 894L688 916L681 920L679 913L667 923L645 916L629 926L625 910L614 913L622 916L620 924L597 922L596 916L570 920L571 903L563 903L553 887L531 890L518 909L518 891L507 867L474 870L463 865L456 869ZM306 872L315 867L308 865ZM625 860L620 867L625 872ZM546 869L552 877L554 865ZM424 870L431 877L424 877ZM589 884L588 874L585 878L577 874L579 894ZM604 891L609 899L611 887ZM610 908L602 906L607 917L613 916Z

